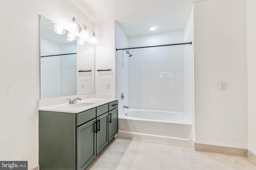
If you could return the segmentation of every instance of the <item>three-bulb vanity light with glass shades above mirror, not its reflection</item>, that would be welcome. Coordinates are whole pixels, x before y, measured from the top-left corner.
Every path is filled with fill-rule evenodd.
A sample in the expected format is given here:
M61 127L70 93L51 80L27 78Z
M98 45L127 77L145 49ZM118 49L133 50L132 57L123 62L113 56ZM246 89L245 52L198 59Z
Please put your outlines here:
M79 22L79 24L78 24ZM78 33L80 33L82 35L82 38L85 39L89 36L88 30L92 31L90 28L86 27L86 25L84 25L81 21L79 21L78 19L76 19L75 17L72 18L72 20L70 21L71 23L71 29L72 31L76 31ZM90 42L92 44L95 44L98 42L98 39L95 35L95 32L92 31L92 36L91 36L91 40Z

